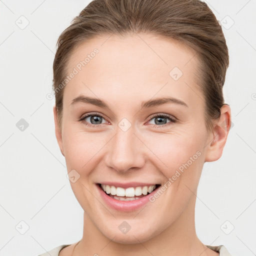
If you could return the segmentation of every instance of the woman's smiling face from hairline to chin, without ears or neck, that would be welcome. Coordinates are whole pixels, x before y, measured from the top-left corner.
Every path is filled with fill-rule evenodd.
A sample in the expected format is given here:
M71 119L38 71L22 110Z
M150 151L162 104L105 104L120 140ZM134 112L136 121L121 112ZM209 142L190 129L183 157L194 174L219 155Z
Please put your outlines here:
M68 61L58 143L88 223L113 241L146 241L193 214L211 139L196 61L180 43L145 34L93 38Z

